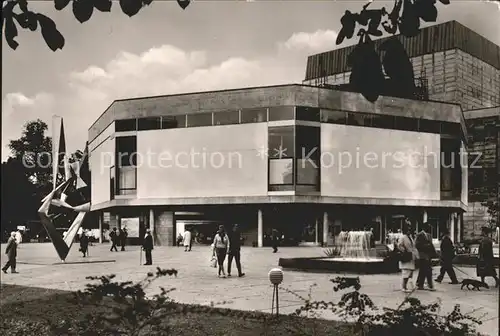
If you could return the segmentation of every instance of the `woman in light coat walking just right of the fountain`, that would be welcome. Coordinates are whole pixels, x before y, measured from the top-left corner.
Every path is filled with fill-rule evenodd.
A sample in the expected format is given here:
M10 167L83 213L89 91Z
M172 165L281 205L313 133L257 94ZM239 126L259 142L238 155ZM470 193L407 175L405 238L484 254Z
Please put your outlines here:
M399 269L401 270L402 284L401 290L405 293L411 292L408 288L408 282L413 279L415 271L415 260L418 258L418 252L415 248L415 242L410 235L411 227L409 224L403 225L403 235L399 238L397 248L399 253Z

